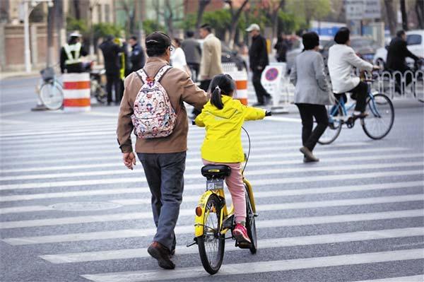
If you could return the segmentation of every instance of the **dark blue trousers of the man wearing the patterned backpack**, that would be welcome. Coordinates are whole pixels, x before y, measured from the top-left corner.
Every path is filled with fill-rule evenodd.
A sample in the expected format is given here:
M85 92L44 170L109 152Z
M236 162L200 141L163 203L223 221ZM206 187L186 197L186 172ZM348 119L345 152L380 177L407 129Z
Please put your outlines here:
M153 241L170 251L175 249L175 225L184 189L186 152L137 153L152 194L153 220L157 227Z

